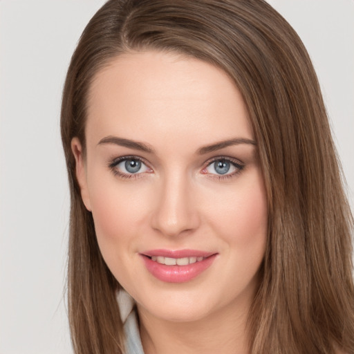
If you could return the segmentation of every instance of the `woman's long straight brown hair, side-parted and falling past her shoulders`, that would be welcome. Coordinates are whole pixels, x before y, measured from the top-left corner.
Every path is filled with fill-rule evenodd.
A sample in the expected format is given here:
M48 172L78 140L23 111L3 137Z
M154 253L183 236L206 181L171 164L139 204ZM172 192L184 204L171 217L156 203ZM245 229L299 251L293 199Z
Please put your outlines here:
M263 0L110 0L86 26L62 99L71 189L68 304L77 354L124 353L116 292L80 196L71 139L101 68L130 50L183 53L222 68L243 95L268 194L268 245L250 310L250 353L354 353L353 217L315 71Z

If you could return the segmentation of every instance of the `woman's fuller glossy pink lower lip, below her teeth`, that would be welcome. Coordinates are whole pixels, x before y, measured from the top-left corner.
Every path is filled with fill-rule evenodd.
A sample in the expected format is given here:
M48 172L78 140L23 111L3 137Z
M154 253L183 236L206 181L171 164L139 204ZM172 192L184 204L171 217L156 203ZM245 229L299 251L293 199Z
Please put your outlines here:
M186 283L198 277L198 275L212 265L215 258L216 254L213 254L203 259L203 261L196 263L187 265L165 265L152 261L149 257L142 255L147 270L157 279L167 283Z

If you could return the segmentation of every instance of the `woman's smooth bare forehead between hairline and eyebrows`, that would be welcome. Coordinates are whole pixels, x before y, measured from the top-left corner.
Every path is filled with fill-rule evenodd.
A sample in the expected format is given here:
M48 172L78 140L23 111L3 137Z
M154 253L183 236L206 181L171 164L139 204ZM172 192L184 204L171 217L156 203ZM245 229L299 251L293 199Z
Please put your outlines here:
M95 75L86 136L252 138L241 93L220 68L173 53L120 55Z

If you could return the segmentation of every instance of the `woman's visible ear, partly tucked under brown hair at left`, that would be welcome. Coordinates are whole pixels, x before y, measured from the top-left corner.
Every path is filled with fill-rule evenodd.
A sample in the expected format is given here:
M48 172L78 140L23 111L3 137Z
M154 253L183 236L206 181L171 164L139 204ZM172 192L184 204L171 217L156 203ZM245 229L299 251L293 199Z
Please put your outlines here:
M75 174L77 182L80 185L81 198L86 209L91 212L91 202L90 196L88 194L84 153L79 138L75 137L73 140L71 140L71 151L73 151L73 155L75 157Z

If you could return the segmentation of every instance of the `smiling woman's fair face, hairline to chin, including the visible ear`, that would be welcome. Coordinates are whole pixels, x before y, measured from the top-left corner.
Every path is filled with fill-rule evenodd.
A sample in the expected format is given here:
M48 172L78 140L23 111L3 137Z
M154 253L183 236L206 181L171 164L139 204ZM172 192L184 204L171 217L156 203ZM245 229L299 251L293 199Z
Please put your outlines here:
M248 310L267 201L243 98L198 59L129 53L97 73L82 198L111 272L146 314L172 321Z

